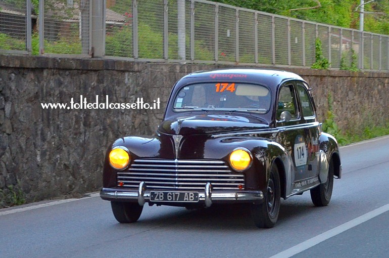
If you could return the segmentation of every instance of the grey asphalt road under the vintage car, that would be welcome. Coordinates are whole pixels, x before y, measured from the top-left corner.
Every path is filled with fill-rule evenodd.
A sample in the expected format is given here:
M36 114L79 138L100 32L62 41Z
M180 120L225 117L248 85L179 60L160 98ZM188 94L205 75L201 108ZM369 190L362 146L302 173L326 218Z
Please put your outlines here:
M116 222L97 194L0 209L0 257L388 257L389 137L341 149L329 206L309 193L282 200L275 228L242 205L144 207Z

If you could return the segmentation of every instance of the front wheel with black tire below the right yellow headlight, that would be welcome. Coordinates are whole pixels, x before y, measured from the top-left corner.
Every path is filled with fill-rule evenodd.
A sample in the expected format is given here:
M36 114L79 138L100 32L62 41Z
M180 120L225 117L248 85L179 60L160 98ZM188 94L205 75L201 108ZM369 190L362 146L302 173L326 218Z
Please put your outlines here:
M278 168L275 164L271 166L267 190L263 194L263 203L252 204L251 214L258 228L272 228L278 220L281 206L281 184Z

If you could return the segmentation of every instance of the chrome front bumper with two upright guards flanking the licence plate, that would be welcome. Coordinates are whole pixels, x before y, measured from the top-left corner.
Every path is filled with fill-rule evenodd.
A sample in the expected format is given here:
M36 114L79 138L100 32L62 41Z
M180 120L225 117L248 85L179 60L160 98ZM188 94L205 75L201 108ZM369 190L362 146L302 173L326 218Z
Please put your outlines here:
M153 190L155 191L155 190ZM172 190L172 192L184 192L182 190ZM109 201L137 201L139 205L143 206L150 200L150 190L144 182L139 184L138 190L119 190L116 188L103 188L100 191L100 197ZM212 203L235 203L235 202L262 202L262 191L212 191L212 185L207 183L204 192L199 192L199 202L204 202L205 206L210 207ZM152 202L154 203L154 202ZM168 203L162 203L169 205Z

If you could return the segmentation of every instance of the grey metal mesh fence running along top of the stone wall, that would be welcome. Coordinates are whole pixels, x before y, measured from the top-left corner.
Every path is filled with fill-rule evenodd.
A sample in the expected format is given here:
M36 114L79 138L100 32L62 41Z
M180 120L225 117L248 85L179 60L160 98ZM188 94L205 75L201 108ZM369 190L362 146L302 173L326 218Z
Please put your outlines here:
M3 53L91 57L101 44L106 58L280 67L311 67L319 38L333 69L389 70L387 35L204 0L0 0L0 29Z

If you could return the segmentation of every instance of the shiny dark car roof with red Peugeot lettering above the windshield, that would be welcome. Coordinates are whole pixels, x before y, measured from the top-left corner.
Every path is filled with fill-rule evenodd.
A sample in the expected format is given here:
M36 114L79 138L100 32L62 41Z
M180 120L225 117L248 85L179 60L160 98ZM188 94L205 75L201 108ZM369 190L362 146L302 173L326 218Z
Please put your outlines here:
M210 71L198 71L184 76L182 79L205 79L210 80L235 80L235 81L253 81L260 82L268 86L276 86L284 80L298 79L302 77L293 72L273 70L273 69L255 69L255 68L228 68Z

